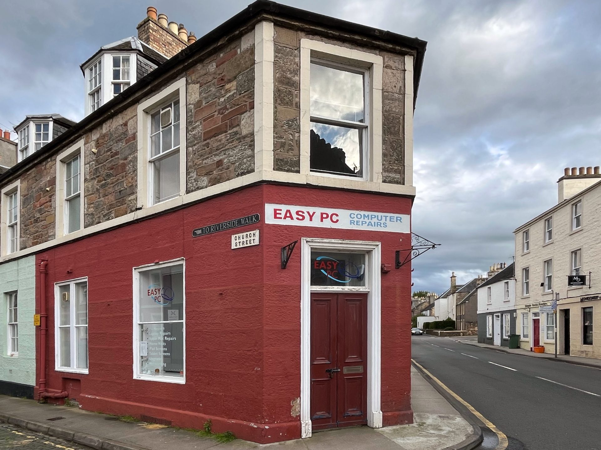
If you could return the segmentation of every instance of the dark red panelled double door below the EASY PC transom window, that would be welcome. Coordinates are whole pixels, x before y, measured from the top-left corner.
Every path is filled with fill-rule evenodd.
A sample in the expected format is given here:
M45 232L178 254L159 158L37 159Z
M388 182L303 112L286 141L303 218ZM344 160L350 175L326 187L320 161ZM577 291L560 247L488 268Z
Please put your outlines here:
M311 294L313 430L367 424L367 294Z

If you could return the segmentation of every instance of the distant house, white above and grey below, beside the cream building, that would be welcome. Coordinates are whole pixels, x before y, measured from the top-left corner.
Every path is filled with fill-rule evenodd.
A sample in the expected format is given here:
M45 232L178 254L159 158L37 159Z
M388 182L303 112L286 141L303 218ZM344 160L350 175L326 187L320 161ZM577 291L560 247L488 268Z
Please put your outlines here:
M514 263L478 287L478 342L509 346L516 332L516 278Z

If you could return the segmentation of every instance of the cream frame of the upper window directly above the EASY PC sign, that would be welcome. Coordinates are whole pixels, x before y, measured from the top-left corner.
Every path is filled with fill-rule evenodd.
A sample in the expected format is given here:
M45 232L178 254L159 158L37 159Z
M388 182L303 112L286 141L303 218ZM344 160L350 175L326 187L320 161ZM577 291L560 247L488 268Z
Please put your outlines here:
M365 70L365 128L367 133L364 141L363 177L344 176L322 172L311 172L311 62L320 64L327 62L333 67L353 68L355 71ZM382 56L373 53L352 50L346 47L326 44L310 39L301 39L301 174L313 178L338 178L341 183L347 179L363 179L364 181L382 181ZM375 118L377 117L377 120ZM347 124L346 126L349 126ZM404 151L405 149L403 149ZM412 155L405 155L408 163L407 170L412 170ZM409 158L409 160L407 160ZM410 177L405 178L405 184L411 184Z

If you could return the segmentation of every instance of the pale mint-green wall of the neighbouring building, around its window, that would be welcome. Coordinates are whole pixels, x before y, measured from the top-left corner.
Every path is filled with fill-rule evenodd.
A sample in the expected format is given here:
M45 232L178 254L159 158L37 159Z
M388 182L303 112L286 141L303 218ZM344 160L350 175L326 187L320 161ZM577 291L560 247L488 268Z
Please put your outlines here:
M17 291L19 356L8 356L5 292ZM0 379L35 386L35 256L0 264Z

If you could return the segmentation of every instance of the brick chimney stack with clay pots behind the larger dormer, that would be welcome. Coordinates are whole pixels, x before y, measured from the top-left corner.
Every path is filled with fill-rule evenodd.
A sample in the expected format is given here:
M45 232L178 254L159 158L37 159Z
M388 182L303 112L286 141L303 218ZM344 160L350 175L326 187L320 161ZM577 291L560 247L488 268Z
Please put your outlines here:
M167 58L188 47L190 41L183 24L178 26L177 22L168 22L166 14L157 14L152 6L147 8L145 19L138 24L138 39Z

